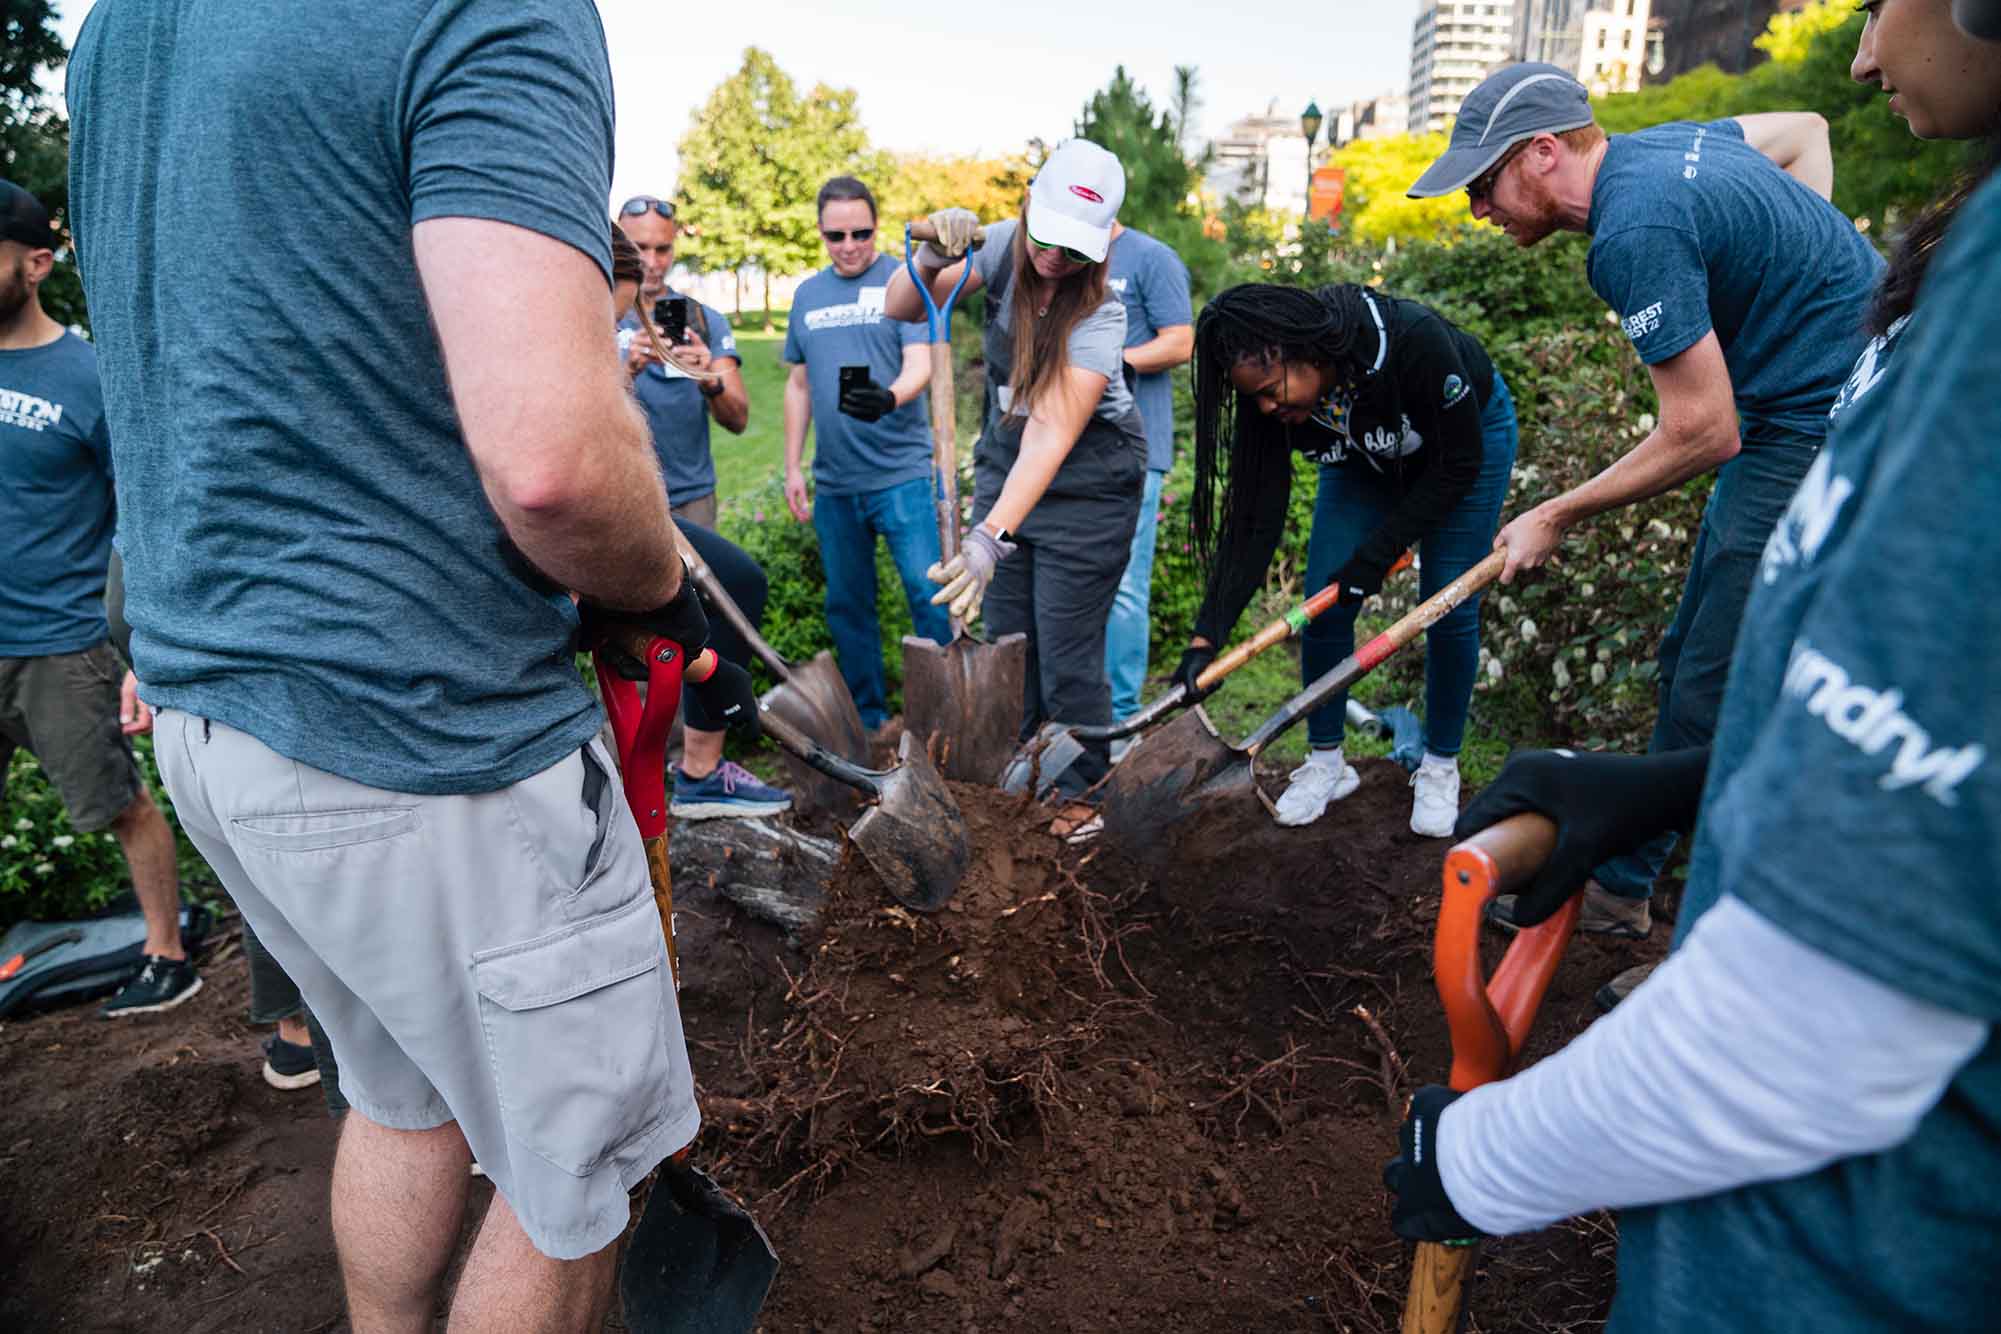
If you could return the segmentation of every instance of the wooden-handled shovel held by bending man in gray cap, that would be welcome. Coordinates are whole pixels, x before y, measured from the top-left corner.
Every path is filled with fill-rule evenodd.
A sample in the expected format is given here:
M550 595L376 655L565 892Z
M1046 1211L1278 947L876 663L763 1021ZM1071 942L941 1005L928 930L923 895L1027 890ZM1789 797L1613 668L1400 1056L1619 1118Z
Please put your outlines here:
M1201 708L1183 714L1161 728L1111 772L1105 782L1105 836L1133 850L1169 846L1175 824L1203 808L1249 802L1263 796L1257 790L1253 766L1257 756L1311 714L1329 696L1347 690L1373 672L1385 658L1409 644L1421 630L1437 624L1447 612L1491 584L1507 552L1495 550L1483 562L1417 604L1383 634L1343 658L1331 672L1295 694L1265 724L1231 746L1217 736L1209 714Z

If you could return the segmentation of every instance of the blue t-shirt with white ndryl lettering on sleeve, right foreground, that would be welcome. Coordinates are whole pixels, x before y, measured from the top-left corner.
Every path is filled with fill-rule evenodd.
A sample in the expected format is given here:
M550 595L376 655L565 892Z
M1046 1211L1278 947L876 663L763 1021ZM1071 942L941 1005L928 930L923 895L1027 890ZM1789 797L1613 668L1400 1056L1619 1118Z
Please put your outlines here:
M2001 180L1959 210L1745 608L1679 934L1723 892L2001 1024ZM1785 980L1775 978L1783 990ZM1991 1330L2001 1038L1879 1154L1619 1220L1611 1328Z

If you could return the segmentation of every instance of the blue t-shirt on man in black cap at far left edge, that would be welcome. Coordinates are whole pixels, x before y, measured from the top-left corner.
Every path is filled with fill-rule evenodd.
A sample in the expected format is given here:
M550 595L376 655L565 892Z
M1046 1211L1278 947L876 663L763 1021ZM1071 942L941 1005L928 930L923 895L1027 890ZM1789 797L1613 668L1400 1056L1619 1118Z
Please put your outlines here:
M76 334L0 350L0 658L102 640L112 440L98 354Z

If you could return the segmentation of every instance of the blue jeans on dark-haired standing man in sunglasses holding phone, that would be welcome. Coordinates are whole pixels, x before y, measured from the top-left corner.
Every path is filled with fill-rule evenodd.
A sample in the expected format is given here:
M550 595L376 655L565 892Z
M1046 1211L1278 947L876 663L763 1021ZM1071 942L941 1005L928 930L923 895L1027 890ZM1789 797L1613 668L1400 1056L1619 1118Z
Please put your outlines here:
M874 608L874 540L888 542L888 558L902 578L916 634L936 644L952 638L952 620L930 604L936 584L924 570L938 562L938 514L930 506L930 478L912 478L884 490L812 498L812 530L820 536L826 568L826 628L834 636L840 678L854 696L862 726L888 722L888 688L882 682L882 626Z

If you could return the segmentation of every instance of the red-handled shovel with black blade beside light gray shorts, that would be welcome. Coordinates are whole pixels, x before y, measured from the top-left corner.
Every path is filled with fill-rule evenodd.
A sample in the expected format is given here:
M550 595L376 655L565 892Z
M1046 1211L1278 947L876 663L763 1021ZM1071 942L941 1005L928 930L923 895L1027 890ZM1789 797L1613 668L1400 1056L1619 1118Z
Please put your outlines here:
M652 900L666 932L666 966L678 988L674 888L666 872L666 734L680 706L684 664L680 646L668 640L632 644L628 652L646 664L646 702L640 704L638 688L604 654L596 656L598 688L618 740L626 804L646 844ZM694 1166L692 1148L660 1164L646 1212L626 1244L618 1300L634 1334L748 1334L778 1274L778 1254L764 1230Z

